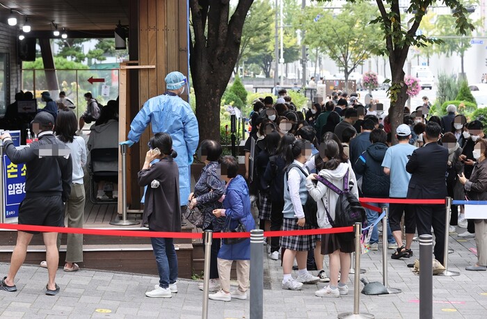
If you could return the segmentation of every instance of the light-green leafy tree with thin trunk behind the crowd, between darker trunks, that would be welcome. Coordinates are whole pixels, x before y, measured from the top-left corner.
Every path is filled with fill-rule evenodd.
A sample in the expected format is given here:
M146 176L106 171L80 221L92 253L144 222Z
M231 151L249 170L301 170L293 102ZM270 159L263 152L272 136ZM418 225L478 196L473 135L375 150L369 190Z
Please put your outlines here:
M369 58L372 48L383 43L380 28L369 24L377 15L375 5L357 1L346 3L340 13L308 7L297 23L305 28L305 44L328 55L344 70L348 87L349 74Z

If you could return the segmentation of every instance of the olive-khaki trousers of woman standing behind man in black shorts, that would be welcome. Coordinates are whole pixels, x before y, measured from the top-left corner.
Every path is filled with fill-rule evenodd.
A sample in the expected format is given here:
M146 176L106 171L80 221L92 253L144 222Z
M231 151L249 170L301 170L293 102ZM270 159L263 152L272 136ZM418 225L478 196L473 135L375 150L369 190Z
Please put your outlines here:
M67 227L83 228L83 214L85 210L85 187L83 184L71 184L70 199L65 205ZM58 234L58 250L61 246L61 236ZM67 263L81 263L83 261L83 234L67 234L66 260Z

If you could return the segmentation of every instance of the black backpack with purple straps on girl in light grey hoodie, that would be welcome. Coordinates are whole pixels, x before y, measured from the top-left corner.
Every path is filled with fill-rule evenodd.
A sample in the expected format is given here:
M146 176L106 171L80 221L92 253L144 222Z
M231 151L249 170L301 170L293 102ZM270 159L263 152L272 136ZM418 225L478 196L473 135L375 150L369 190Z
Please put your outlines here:
M349 227L356 222L365 222L365 208L362 207L358 198L349 192L349 170L346 171L343 179L343 190L319 175L317 175L317 180L338 194L335 204L335 220L332 220L325 205L326 215L332 227Z

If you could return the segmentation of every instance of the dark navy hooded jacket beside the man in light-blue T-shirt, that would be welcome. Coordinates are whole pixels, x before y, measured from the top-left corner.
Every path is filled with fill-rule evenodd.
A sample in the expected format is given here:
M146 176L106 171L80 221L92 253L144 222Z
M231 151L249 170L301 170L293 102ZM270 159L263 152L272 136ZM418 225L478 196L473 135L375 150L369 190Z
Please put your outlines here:
M356 174L362 175L362 193L366 197L389 197L390 178L382 167L387 150L383 143L372 144L353 165Z

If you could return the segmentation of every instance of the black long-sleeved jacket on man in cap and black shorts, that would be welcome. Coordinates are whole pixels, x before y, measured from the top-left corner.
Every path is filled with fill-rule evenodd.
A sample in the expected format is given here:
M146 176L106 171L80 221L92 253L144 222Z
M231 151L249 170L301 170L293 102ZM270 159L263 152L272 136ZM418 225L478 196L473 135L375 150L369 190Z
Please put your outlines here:
M3 147L12 163L26 163L26 198L57 195L67 201L71 193L72 158L65 156L70 155L69 147L52 132L40 134L37 142L23 149L16 149L12 140L6 140Z

